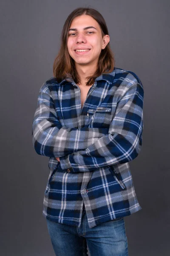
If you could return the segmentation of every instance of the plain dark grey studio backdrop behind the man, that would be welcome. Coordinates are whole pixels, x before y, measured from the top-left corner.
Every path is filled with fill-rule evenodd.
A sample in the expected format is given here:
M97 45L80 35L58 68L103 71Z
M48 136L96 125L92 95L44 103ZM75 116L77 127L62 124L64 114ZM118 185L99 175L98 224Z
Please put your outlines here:
M34 151L31 128L38 91L53 76L65 19L90 5L106 20L115 67L144 86L144 131L130 162L142 210L125 217L129 256L170 248L170 1L1 1L0 255L54 256L42 203L48 157ZM169 237L168 237L169 236Z

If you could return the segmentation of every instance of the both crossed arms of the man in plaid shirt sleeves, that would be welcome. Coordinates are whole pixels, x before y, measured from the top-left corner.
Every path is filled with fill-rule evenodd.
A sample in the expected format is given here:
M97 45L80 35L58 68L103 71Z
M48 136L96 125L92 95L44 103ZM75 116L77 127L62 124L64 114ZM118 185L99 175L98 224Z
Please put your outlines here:
M59 123L49 92L42 87L33 120L36 152L59 158L62 169L73 173L133 160L142 146L143 96L142 83L133 81L117 103L109 129L67 129Z

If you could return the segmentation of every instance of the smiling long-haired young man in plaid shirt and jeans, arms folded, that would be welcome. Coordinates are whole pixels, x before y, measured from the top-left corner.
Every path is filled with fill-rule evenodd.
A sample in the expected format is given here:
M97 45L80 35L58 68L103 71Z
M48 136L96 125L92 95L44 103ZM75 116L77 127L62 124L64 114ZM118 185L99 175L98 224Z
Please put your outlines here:
M40 88L37 154L51 170L43 215L56 255L127 256L124 216L142 209L128 162L142 146L143 86L114 67L108 29L78 8L62 30L54 77Z

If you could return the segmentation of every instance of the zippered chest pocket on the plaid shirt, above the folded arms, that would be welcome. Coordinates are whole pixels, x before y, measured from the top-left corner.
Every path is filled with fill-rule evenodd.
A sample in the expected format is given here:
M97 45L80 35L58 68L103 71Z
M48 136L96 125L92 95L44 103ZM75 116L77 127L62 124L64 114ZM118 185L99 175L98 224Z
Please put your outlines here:
M87 119L91 128L109 128L111 124L111 108L98 107L96 109L88 109Z

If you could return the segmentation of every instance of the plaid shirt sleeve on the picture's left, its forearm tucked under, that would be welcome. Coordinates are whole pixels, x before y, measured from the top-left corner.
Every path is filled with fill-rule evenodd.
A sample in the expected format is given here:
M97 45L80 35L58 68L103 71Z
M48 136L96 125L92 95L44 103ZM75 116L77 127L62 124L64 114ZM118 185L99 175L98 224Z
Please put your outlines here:
M105 134L108 134L108 128L63 127L57 118L49 88L45 83L42 85L32 122L32 141L37 154L63 157L88 148Z

